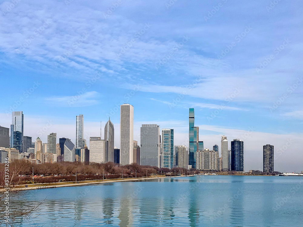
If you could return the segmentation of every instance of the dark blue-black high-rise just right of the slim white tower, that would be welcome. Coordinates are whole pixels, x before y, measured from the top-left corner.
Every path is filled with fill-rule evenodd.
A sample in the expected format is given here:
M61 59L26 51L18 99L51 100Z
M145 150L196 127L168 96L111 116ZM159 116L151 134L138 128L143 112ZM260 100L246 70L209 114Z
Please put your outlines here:
M243 141L235 139L231 141L231 171L244 171L244 162L243 162Z

